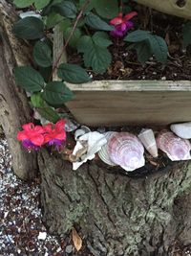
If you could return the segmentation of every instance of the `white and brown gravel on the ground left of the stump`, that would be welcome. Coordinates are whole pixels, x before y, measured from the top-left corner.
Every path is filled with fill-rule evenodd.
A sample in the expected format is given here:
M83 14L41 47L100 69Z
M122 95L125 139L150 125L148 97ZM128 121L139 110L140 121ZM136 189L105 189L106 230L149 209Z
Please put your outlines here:
M40 178L26 183L13 175L8 143L0 138L0 256L69 255L70 238L51 236L41 221L39 194Z

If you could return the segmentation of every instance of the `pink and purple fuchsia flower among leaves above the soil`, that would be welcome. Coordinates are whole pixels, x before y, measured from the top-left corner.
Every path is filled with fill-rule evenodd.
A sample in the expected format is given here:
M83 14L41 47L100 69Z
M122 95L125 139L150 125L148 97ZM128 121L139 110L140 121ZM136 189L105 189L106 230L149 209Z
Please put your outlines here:
M133 28L134 23L130 21L131 18L138 15L138 12L129 12L124 17L122 12L119 12L117 17L110 21L110 24L115 26L115 30L111 31L111 35L115 37L122 37L127 31Z

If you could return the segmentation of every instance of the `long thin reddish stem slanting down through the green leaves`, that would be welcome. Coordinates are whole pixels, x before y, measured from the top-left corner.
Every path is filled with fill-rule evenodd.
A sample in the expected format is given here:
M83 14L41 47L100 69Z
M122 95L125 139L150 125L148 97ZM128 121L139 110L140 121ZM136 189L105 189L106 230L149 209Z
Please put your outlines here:
M64 44L63 47L62 47L62 50L61 50L60 55L58 56L58 58L57 58L57 59L55 60L55 62L53 63L53 71L52 71L50 80L52 79L53 73L55 72L58 63L59 63L60 59L62 58L62 55L64 54L64 52L65 52L65 50L66 50L66 47L67 47L67 45L69 44L69 41L70 41L71 37L72 37L73 34L74 34L74 30L75 30L75 28L76 28L76 26L77 26L77 23L78 23L79 19L81 18L83 12L85 11L86 6L89 4L89 2L90 2L90 0L86 0L86 2L85 2L84 5L82 6L80 12L78 13L78 15L77 15L77 17L76 17L76 19L75 19L74 26L73 26L73 29L72 29L71 33L70 33L70 35L68 36L68 38L67 38L65 44Z

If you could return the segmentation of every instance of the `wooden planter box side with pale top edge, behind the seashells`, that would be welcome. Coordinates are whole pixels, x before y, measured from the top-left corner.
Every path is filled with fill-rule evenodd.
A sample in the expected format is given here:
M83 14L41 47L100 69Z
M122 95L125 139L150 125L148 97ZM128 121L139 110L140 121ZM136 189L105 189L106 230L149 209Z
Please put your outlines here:
M87 126L191 121L191 81L92 81L68 86L74 118Z

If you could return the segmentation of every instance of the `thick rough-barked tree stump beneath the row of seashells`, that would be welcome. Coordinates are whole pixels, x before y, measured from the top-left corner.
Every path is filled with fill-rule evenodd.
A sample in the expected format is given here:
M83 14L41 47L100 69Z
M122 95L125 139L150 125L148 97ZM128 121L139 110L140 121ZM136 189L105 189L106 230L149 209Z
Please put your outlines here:
M191 243L191 166L170 163L162 172L130 178L96 163L72 171L61 157L42 151L43 220L65 234L74 224L96 256L172 255Z

